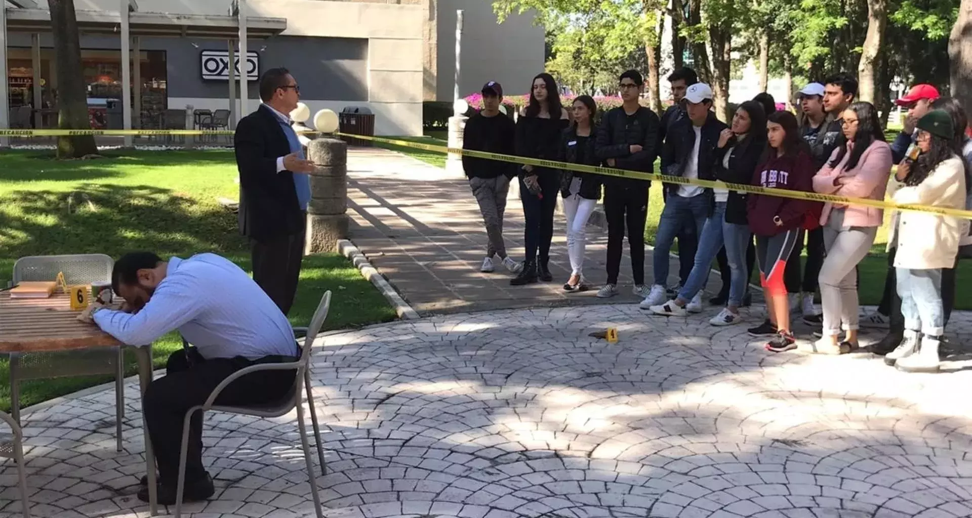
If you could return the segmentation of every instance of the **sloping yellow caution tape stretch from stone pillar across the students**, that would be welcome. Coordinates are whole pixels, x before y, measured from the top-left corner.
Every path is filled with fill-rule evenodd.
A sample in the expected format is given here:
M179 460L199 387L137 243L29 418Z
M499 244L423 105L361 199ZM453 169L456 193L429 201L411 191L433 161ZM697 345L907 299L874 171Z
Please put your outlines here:
M680 176L669 176L669 175L663 175L657 173L642 173L638 171L627 171L624 169L614 169L611 167L583 165L578 163L559 162L555 160L541 160L538 158L528 158L526 156L501 155L498 153L463 150L459 148L449 148L446 146L435 146L432 144L421 144L418 142L387 139L382 137L370 137L365 135L352 135L352 134L345 134L345 133L335 133L335 135L339 135L343 137L360 138L360 139L369 140L373 142L380 142L382 144L390 144L394 146L401 146L404 148L414 148L414 149L419 149L424 151L431 151L435 153L451 153L455 155L472 156L475 158L489 158L492 160L499 160L503 162L534 165L538 167L547 167L550 169L564 169L567 171L576 171L579 173L593 173L593 174L606 175L606 176L615 176L619 178L630 178L635 180L649 180L654 182L663 182L666 184L679 184L683 186L699 186L708 189L728 189L728 190L736 190L739 192L748 192L751 194L764 194L768 196L781 196L784 198L804 199L810 201L823 201L823 202L837 203L840 205L864 205L868 207L877 207L879 209L886 209L886 210L925 212L925 213L938 214L942 216L955 216L958 218L972 219L972 211L952 209L947 207L898 204L898 203L893 203L884 200L868 199L868 198L851 198L847 196L837 196L834 194L820 194L818 192L806 192L803 190L785 190L785 189L777 189L777 188L751 186L748 184L730 184L727 182L721 182L717 180L698 180L698 179L682 178Z

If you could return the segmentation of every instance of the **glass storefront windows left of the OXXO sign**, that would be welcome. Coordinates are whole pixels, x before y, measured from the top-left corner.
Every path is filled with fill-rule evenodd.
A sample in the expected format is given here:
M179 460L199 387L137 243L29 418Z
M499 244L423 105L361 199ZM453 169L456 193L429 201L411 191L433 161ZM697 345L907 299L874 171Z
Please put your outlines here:
M7 81L10 87L11 121L16 127L34 125L33 61L30 49L10 49ZM94 127L121 127L121 52L81 51L82 69L87 87L88 108ZM168 103L164 51L140 52L141 127L156 127ZM134 81L134 73L132 80ZM56 119L56 70L52 49L41 49L41 115L44 127ZM134 88L132 91L134 109ZM117 108L116 108L117 106ZM118 115L109 114L117 112ZM134 123L139 125L139 118ZM23 125L27 124L27 125Z

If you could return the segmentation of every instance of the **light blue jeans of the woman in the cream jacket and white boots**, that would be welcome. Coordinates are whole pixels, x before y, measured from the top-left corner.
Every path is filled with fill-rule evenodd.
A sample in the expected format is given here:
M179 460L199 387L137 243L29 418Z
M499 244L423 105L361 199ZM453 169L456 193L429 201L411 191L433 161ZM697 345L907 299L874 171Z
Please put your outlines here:
M898 296L905 328L926 336L945 333L945 311L942 308L942 270L896 268Z

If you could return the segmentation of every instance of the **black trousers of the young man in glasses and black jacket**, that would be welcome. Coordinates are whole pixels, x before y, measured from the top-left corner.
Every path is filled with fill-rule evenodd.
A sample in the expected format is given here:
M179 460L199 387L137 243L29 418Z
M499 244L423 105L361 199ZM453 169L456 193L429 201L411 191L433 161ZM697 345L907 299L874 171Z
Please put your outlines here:
M648 190L605 186L604 206L608 220L608 284L617 284L627 224L631 276L635 284L641 286L644 284L644 221L648 216Z

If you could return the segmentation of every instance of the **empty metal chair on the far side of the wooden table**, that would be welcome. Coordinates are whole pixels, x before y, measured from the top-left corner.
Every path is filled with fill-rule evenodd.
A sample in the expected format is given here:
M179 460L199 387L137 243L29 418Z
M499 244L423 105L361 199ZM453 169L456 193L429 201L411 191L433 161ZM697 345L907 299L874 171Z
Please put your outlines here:
M104 254L31 256L14 263L14 281L53 281L64 273L68 285L111 282L115 261ZM90 374L115 374L115 439L121 451L124 421L124 353L121 347L69 353L12 353L10 355L10 405L20 423L20 388L23 380L50 379Z

